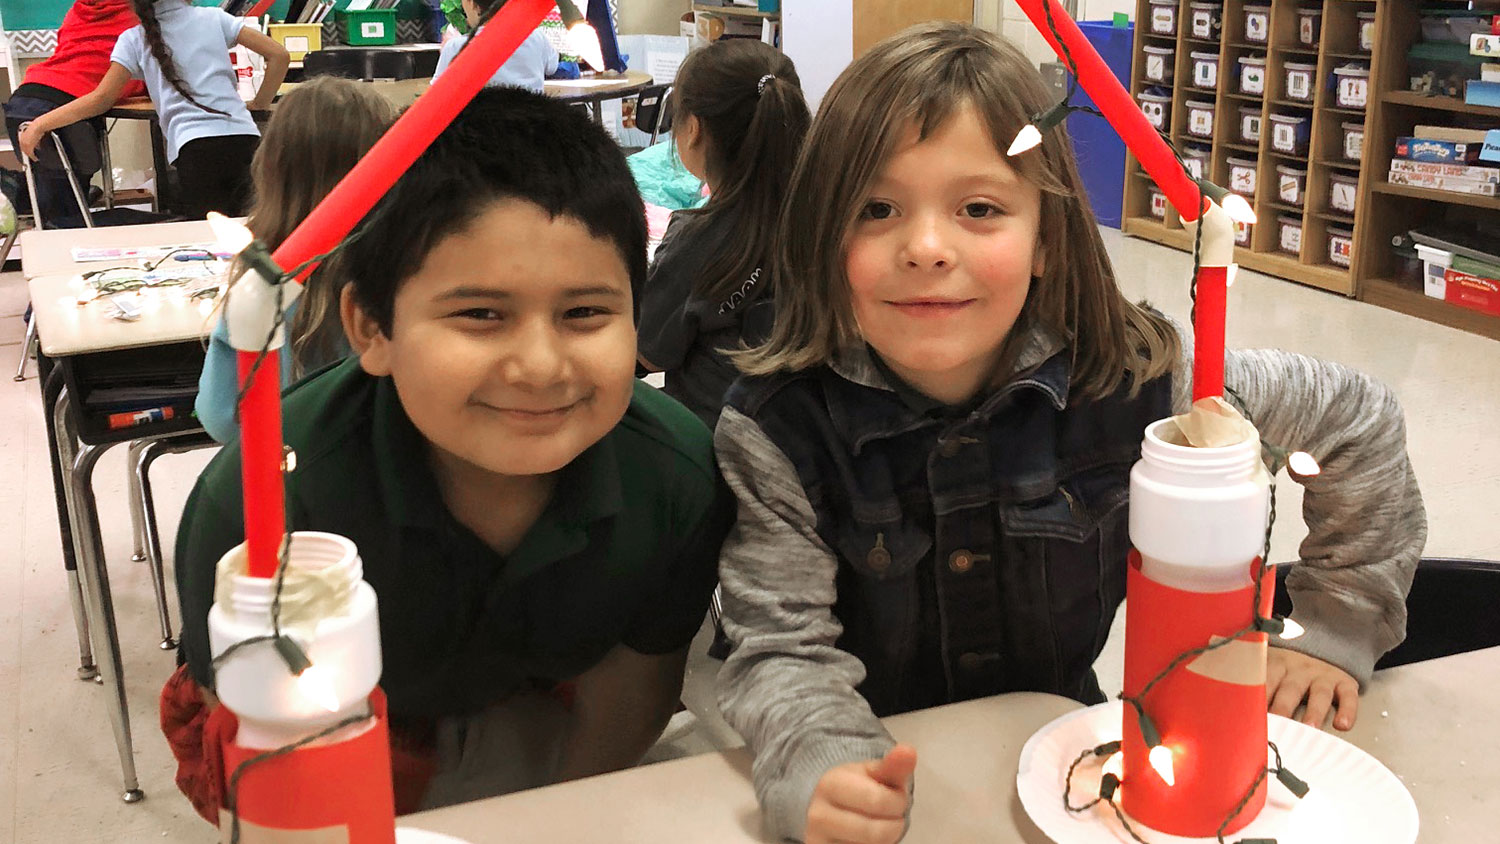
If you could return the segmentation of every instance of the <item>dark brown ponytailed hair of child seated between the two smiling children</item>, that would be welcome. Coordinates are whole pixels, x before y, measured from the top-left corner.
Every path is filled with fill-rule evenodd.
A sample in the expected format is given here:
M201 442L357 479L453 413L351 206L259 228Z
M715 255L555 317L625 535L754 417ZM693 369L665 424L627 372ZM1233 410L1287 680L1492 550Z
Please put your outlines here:
M735 213L734 237L706 244L699 297L740 289L776 253L776 220L812 123L796 67L782 51L750 39L716 40L693 51L672 88L674 130L698 120L714 195L692 216ZM766 271L770 274L770 271ZM770 292L762 282L758 295Z

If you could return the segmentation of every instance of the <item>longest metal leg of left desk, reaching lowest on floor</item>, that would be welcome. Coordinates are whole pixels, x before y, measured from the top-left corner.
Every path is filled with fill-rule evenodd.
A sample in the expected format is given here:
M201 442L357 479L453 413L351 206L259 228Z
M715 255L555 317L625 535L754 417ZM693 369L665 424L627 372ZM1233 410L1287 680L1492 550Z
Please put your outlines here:
M68 418L66 390L57 399L58 438L74 438ZM87 445L78 448L72 466L66 466L69 510L74 519L74 543L78 552L80 576L87 583L84 598L92 616L90 627L99 642L104 660L99 664L104 687L110 690L110 726L114 730L116 750L120 753L120 771L124 792L120 799L128 804L146 798L135 774L135 745L130 739L130 711L124 696L124 670L120 661L120 633L114 622L114 598L110 595L110 573L105 570L104 547L99 538L99 513L93 495L93 469L106 447Z

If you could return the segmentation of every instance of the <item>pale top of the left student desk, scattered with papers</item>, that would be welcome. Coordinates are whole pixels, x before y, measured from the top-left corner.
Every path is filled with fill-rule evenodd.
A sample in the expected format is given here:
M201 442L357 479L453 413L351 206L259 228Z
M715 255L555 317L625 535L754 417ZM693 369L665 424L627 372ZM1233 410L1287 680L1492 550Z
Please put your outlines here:
M110 316L112 309L104 300L80 306L80 273L140 265L140 261L78 264L72 258L72 247L172 246L213 240L213 231L204 220L21 234L21 243L26 244L21 273L30 286L42 351L50 357L64 357L207 336L216 319L213 300L188 300L180 289L146 291L141 295L144 315L135 322Z

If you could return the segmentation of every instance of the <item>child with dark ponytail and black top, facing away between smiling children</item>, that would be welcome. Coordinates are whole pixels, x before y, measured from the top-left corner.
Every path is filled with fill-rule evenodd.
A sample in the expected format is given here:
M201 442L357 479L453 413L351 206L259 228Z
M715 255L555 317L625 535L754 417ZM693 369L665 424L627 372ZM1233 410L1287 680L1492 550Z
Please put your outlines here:
M640 297L639 363L708 427L738 370L724 351L758 345L772 322L771 255L782 196L812 117L792 60L750 39L682 61L672 138L708 184L702 208L672 214Z

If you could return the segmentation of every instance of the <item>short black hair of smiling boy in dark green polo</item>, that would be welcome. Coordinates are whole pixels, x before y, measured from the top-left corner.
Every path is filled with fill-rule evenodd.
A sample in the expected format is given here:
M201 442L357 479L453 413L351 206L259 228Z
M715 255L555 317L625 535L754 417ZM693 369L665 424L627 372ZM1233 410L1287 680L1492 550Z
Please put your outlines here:
M525 199L612 241L639 313L646 217L624 153L582 109L496 87L474 96L340 252L354 300L381 331L390 336L396 291L432 247L500 199Z

